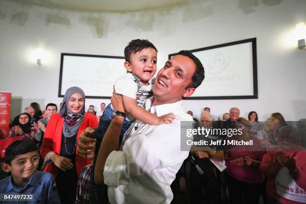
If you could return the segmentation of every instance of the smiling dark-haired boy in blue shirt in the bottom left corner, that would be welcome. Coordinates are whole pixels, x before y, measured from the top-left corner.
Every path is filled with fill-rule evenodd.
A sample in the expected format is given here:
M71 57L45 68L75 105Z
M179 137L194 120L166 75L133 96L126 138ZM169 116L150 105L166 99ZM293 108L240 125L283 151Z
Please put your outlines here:
M2 169L11 175L0 180L0 193L26 195L23 201L9 203L60 203L53 175L36 170L39 157L39 148L31 140L17 140L6 148Z

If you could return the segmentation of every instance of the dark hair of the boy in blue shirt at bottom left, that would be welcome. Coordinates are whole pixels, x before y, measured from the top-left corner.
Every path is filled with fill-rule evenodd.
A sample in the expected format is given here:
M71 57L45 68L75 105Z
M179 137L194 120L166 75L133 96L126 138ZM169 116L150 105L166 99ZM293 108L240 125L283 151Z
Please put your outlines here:
M38 151L39 147L34 141L28 139L20 139L9 144L5 150L4 162L10 165L17 155L25 154L30 151Z

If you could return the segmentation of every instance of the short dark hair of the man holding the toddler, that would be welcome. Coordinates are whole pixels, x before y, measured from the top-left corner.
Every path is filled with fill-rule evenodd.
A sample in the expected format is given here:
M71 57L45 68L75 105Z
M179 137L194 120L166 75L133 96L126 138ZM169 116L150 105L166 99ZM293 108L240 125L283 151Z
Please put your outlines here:
M181 50L177 54L187 56L190 59L192 59L193 62L195 63L195 68L196 69L195 69L195 71L192 75L191 82L189 83L189 85L186 86L185 89L198 87L202 83L203 79L205 78L205 71L204 71L204 67L203 67L202 63L200 62L200 60L196 56L194 56L188 50Z

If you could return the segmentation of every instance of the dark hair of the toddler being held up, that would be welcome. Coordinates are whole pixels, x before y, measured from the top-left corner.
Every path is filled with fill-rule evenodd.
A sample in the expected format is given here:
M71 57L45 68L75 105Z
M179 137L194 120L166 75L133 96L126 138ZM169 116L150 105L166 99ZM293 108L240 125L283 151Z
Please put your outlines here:
M141 51L144 48L151 47L156 50L156 47L147 39L133 39L128 42L128 45L124 48L124 58L125 61L130 62L130 55L138 51Z

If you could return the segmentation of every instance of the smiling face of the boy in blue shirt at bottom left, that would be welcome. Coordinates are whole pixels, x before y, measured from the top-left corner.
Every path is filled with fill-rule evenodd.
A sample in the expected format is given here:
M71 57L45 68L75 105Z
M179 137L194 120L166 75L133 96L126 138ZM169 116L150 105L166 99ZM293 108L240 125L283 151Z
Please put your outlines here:
M29 179L36 170L38 163L38 151L30 151L12 159L10 165L6 164L7 170L5 171L10 171L15 180Z

